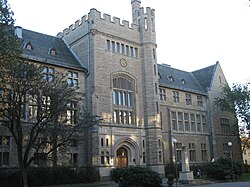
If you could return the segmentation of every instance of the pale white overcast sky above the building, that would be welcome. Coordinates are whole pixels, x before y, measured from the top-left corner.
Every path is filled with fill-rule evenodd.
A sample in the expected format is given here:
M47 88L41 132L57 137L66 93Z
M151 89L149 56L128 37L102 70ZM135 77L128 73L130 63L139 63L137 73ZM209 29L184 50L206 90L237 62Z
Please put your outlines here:
M219 61L231 85L250 81L249 0L141 0L155 9L158 63L194 71ZM16 25L55 36L91 8L131 23L131 0L8 0Z

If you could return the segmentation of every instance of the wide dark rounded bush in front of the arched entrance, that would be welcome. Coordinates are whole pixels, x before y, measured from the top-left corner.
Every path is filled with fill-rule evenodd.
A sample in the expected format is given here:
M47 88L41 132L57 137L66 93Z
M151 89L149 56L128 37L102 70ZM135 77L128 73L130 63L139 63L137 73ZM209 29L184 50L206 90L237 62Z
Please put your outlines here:
M148 167L116 168L110 172L111 180L120 187L158 187L161 185L159 173Z

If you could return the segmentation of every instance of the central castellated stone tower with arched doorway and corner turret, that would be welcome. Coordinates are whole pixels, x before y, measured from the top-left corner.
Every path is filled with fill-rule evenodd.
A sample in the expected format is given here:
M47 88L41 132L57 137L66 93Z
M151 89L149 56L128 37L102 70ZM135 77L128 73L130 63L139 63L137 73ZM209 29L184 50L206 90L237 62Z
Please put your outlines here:
M155 11L132 0L133 23L91 9L58 36L88 67L86 110L100 117L89 132L86 162L150 166L164 175L159 125Z

